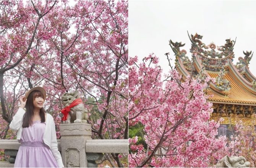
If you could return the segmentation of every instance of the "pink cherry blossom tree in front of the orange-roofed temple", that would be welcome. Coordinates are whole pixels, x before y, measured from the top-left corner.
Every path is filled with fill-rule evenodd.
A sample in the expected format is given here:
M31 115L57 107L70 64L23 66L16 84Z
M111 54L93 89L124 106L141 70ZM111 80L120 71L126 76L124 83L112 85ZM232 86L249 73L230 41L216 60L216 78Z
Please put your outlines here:
M143 125L147 145L136 144L137 136L129 139L130 167L207 167L223 157L217 151L226 137L216 138L221 120L209 120L206 89L212 79L182 78L171 67L162 80L154 54L142 63L130 58L129 66L129 125Z

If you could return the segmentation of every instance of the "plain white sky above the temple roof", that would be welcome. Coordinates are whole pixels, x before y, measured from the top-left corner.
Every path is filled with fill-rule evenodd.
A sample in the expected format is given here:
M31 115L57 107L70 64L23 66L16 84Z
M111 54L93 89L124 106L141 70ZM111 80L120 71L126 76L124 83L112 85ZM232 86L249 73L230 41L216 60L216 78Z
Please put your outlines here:
M140 60L149 53L160 58L164 73L169 71L164 53L170 52L169 40L186 43L187 56L191 42L189 34L203 36L202 42L220 46L225 39L237 42L235 58L244 57L243 50L252 50L251 73L256 76L256 1L129 1L129 57Z

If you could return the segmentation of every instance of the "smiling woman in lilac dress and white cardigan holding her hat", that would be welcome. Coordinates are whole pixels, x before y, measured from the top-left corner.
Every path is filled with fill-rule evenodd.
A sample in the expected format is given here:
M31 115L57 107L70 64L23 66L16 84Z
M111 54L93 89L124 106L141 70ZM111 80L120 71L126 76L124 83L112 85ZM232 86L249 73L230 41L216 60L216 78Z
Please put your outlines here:
M21 105L10 123L21 142L14 167L64 167L53 118L43 108L45 97L44 88L33 87L19 98Z

